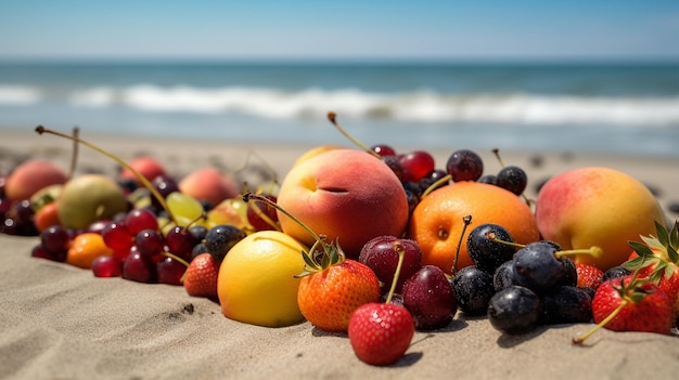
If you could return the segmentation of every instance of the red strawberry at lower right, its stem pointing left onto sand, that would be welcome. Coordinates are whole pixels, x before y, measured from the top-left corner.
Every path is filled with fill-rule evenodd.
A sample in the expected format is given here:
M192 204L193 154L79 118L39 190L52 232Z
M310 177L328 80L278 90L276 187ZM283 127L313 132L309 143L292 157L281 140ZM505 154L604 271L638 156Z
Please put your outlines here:
M649 278L637 275L612 278L599 286L592 299L592 316L598 325L575 338L574 343L581 343L601 327L614 331L671 333L674 300Z

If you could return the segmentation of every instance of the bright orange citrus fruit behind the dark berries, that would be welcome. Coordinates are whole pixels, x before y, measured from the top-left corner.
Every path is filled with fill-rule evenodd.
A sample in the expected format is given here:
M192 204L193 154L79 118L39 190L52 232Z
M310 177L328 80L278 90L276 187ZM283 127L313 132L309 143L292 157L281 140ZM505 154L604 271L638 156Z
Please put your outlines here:
M466 215L472 222L460 240ZM451 274L458 245L457 268L474 263L466 251L466 238L484 223L503 226L520 244L540 238L528 205L504 188L479 182L457 182L425 196L413 210L408 236L422 248L424 265L436 265Z

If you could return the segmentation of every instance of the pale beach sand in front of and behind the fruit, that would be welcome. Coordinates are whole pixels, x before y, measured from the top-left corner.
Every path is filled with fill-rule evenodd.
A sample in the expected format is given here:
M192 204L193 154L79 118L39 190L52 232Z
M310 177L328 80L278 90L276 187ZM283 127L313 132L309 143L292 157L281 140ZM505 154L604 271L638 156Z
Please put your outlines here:
M175 175L215 166L255 184L279 180L311 146L159 141L80 135L124 159L152 154ZM347 144L347 146L351 146ZM4 133L0 171L26 157L67 168L72 144L33 131ZM399 148L399 147L397 147ZM425 147L403 147L425 148ZM80 146L78 172L115 173L108 158ZM451 152L433 152L438 167ZM500 165L489 152L487 172ZM546 152L501 152L529 175L527 195L550 175L582 166L620 169L655 192L669 220L679 202L679 160ZM240 170L248 161L246 170ZM247 175L244 175L247 173ZM253 173L255 173L253 175ZM38 238L0 235L0 378L9 379L657 379L679 374L676 336L600 330L592 325L504 336L486 318L458 313L441 330L419 331L405 357L381 368L356 358L344 335L303 323L264 328L227 319L217 303L182 287L94 278L90 271L30 258Z

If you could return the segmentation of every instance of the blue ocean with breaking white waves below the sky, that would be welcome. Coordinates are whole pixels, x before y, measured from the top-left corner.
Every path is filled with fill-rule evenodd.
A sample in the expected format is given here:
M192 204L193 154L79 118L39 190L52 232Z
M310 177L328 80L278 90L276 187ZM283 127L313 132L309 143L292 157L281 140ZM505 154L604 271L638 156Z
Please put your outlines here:
M0 133L679 157L679 64L0 63Z

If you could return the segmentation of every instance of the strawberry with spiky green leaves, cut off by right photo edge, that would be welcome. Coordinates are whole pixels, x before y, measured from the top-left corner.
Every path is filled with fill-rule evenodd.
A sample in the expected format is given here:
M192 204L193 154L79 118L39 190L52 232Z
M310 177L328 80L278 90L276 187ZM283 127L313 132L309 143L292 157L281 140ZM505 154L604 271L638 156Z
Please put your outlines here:
M623 266L649 277L675 300L679 313L679 222L669 232L656 222L655 230L657 236L641 236L643 243L629 241L635 251Z

